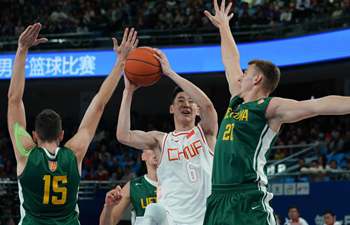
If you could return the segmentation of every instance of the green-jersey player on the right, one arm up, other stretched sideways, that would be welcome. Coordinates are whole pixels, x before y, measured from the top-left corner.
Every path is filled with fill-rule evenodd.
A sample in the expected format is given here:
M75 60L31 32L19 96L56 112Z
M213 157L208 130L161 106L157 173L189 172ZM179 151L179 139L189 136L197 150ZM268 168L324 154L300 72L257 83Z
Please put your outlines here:
M232 4L218 6L205 15L219 28L222 60L231 100L215 146L212 194L208 198L205 225L275 224L267 192L266 161L270 147L284 123L317 115L350 113L350 98L327 96L295 101L272 98L280 70L271 62L254 60L243 73L239 52L230 31Z

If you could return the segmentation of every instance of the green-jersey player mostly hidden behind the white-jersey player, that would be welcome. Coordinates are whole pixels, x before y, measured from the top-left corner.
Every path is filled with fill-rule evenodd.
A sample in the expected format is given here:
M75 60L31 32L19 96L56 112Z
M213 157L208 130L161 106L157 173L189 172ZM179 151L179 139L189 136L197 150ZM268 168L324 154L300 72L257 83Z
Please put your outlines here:
M118 224L130 204L132 206L131 223L135 224L136 221L142 220L146 206L157 202L156 154L152 150L144 150L142 160L146 163L147 174L132 179L123 189L117 186L106 194L100 225Z

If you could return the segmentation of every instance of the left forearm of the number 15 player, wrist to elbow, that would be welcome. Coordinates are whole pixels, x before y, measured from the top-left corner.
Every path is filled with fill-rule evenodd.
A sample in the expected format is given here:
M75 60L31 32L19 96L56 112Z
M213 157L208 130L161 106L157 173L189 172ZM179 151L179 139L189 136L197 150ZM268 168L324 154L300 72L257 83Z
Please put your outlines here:
M10 101L21 101L23 98L25 84L25 62L27 54L28 49L17 49L10 88L8 91L8 98Z

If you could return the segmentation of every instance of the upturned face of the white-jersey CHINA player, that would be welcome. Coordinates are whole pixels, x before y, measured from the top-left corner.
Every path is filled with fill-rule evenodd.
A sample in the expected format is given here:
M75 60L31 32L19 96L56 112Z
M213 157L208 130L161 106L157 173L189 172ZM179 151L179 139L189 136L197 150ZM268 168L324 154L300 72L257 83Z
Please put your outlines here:
M187 93L179 92L170 106L170 113L179 122L192 123L196 119L198 106Z

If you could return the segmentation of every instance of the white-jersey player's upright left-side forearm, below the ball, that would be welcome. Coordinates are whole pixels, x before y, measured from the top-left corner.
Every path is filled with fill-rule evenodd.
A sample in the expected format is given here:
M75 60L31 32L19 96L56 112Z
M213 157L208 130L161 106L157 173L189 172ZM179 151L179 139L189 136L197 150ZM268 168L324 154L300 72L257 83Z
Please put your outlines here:
M130 109L133 93L124 90L121 107L118 116L117 138L121 140L127 139L130 132Z

